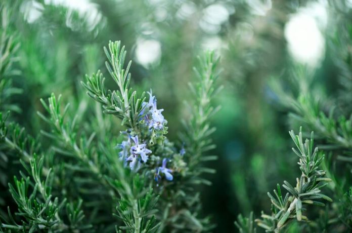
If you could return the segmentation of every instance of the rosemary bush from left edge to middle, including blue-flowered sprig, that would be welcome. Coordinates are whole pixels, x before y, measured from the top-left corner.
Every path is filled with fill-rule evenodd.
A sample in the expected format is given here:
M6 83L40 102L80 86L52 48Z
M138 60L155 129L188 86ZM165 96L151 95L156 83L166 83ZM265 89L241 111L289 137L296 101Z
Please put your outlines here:
M194 103L179 142L165 136L167 121L157 108L152 91L142 93L129 87L131 62L124 66L126 51L120 42L104 48L107 70L118 90L105 90L103 74L86 76L83 87L116 115L125 128L120 135L101 139L95 132L79 129L81 117L71 118L69 104L52 94L41 100L47 112L38 112L48 124L34 140L1 114L2 151L12 151L22 164L20 177L9 183L17 205L16 216L9 208L0 230L6 232L185 232L207 231L209 218L200 211L195 184L210 184L201 174L213 173L202 161L214 148L209 139L214 129L209 119L218 108L211 106L218 61L212 52L199 59L195 69L199 82L190 85ZM78 114L78 112L77 112ZM50 143L42 147L40 140ZM178 146L180 145L180 146ZM7 158L8 153L4 153ZM89 213L87 216L84 212ZM99 216L104 216L104 219ZM115 217L114 217L115 216Z

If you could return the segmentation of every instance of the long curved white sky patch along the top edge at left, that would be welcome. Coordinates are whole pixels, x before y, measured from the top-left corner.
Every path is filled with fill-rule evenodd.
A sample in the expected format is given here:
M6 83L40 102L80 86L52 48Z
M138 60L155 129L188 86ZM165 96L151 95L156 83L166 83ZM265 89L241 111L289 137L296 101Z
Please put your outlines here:
M94 29L102 18L97 5L89 0L45 0L44 2L45 4L61 5L76 10L81 17L86 17L90 29Z

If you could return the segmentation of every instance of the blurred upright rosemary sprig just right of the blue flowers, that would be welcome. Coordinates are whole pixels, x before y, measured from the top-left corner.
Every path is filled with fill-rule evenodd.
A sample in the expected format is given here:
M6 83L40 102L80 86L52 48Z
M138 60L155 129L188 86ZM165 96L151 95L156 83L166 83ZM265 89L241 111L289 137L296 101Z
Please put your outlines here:
M199 167L199 163L216 159L214 156L201 157L203 152L214 148L209 136L215 131L215 128L210 127L209 119L219 110L219 107L213 108L210 104L210 100L220 90L214 87L214 82L218 77L215 70L218 58L214 56L214 53L209 52L206 56L198 58L200 67L199 69L194 68L194 71L199 81L197 85L189 84L195 101L191 102L188 108L193 114L187 122L183 122L185 130L180 135L180 138L189 147L190 151L187 154L192 154L189 157L189 169L198 174L202 172L213 173L212 170ZM194 167L196 169L193 169Z

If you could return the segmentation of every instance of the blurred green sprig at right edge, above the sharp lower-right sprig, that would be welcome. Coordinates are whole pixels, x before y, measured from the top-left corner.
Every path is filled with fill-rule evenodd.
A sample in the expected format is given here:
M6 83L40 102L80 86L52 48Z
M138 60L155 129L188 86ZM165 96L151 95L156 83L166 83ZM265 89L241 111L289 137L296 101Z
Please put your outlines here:
M314 129L319 138L327 140L324 148L329 148L329 145L330 148L335 149L351 148L350 118L346 119L344 115L340 115L334 107L329 108L327 113L322 111L325 97L319 99L314 96L314 92L308 91L309 89L314 90L311 71L307 70L307 67L297 66L295 68L296 71L291 74L291 83L295 87L292 89L297 89L295 91L298 91L298 95L294 96L290 92L285 92L282 87L278 86L278 82L273 83L273 88L280 96L282 104L291 110L291 122L304 124Z

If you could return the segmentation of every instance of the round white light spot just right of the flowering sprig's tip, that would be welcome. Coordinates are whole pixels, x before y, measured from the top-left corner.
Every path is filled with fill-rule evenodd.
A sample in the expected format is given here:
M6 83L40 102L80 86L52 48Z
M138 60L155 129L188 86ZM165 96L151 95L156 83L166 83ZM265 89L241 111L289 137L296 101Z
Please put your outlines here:
M148 68L161 57L161 44L156 40L138 40L136 48L137 62Z

